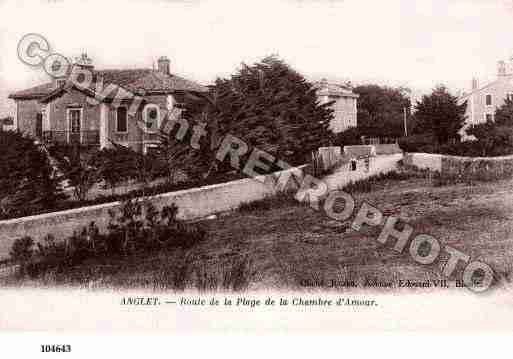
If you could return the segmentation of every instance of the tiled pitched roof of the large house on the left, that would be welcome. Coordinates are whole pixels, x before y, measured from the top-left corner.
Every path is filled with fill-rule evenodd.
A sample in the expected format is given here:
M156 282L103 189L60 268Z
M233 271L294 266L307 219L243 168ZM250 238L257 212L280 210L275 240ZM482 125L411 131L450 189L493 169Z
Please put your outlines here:
M205 92L207 88L174 74L166 75L152 69L95 70L95 79L103 78L104 86L115 84L128 91L144 90L146 93L172 93L175 91ZM94 89L94 85L93 88ZM9 95L11 99L42 99L56 89L53 83L35 86Z

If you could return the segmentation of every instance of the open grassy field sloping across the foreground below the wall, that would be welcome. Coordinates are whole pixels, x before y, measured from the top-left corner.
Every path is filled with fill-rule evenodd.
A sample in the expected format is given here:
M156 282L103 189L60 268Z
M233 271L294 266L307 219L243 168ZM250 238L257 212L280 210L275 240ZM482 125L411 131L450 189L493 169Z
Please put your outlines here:
M367 193L352 193L490 264L500 277L513 270L513 181L433 187L430 180L384 180ZM358 208L358 207L357 207ZM355 231L293 200L244 206L205 221L207 241L190 250L91 260L36 279L4 278L4 285L85 286L199 290L337 290L349 282L442 279L446 257L431 266L415 263L376 241L380 228ZM460 278L461 268L456 276ZM452 278L453 279L453 278ZM451 279L451 280L452 280ZM332 282L336 288L330 288ZM342 284L341 284L342 283ZM376 289L376 288L374 288ZM354 290L354 289L351 289ZM359 289L357 289L359 290Z

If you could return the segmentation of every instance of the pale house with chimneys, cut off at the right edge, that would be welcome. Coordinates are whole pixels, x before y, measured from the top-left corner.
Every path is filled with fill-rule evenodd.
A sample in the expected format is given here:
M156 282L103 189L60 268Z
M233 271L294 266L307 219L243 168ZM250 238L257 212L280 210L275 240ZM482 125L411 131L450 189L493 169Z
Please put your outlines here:
M499 61L497 78L483 86L472 79L472 89L459 97L459 103L467 101L467 120L462 128L463 138L468 137L465 129L471 125L493 121L495 110L504 104L507 97L513 96L513 58L509 61Z

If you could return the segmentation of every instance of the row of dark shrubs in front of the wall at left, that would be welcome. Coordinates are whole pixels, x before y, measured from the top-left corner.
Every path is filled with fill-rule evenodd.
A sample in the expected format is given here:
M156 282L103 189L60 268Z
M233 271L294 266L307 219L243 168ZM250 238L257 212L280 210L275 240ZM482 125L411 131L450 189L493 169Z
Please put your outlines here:
M91 222L65 240L47 235L31 252L32 240L16 241L11 249L11 260L25 261L23 272L38 276L48 270L60 272L89 259L108 259L159 249L190 249L208 237L200 225L186 224L176 219L177 207L157 211L151 204L128 200L118 212L111 212L107 233L101 234Z

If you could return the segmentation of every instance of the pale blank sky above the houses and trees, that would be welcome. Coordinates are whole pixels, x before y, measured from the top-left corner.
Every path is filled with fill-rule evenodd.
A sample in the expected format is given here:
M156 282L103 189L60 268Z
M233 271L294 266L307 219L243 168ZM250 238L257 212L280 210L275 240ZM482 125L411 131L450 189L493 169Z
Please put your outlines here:
M208 83L241 62L278 54L310 79L465 89L513 56L511 0L0 0L0 79L44 81L17 42L45 36L65 56L86 51L97 68L151 67Z

